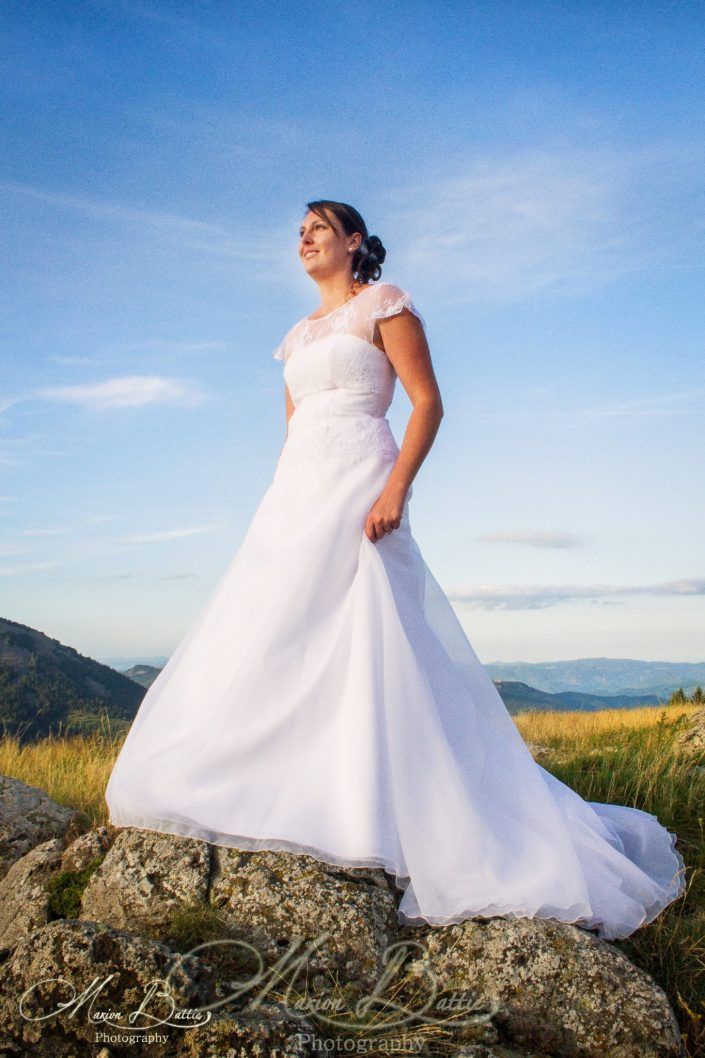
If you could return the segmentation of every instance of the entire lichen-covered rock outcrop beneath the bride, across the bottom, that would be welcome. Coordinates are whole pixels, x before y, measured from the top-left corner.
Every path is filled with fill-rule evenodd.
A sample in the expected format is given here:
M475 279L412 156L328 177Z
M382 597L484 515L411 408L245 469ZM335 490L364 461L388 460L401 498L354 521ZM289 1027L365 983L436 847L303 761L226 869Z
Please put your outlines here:
M338 1034L325 1024L317 1034L315 1003L307 1010L305 1001L344 997L355 1020L355 1000L375 990L384 975L385 952L398 940L420 947L412 947L383 993L406 1002L412 1016L428 998L427 963L439 990L474 993L478 1011L494 1011L482 1024L457 1026L455 1051L448 1041L448 1053L456 1058L683 1058L662 989L591 931L554 919L501 917L400 927L399 894L376 868L341 868L306 855L245 852L131 827L96 827L70 843L69 834L31 849L0 880L0 996L16 997L14 1007L0 999L0 1024L10 1024L10 1016L17 1021L19 996L44 978L65 979L52 986L58 1002L70 998L72 985L78 992L101 974L119 974L95 1005L125 1009L121 989L126 987L135 1008L140 989L165 977L179 950L186 953L183 998L195 990L228 1002L213 1009L207 1025L168 1028L168 1044L96 1039L98 1026L87 1015L90 1000L74 1018L61 1018L60 1027L55 1020L20 1016L21 1024L4 1036L0 1030L0 1058L15 1058L32 1045L38 1058L101 1051L111 1058L126 1047L150 1058L323 1053L311 1041L325 1043ZM60 872L67 872L69 889L62 888ZM56 914L79 917L56 919ZM245 945L209 946L213 940ZM256 973L256 961L252 966L242 957L248 945L261 957L265 980L233 999L237 984ZM397 990L404 974L411 981ZM105 1002L106 990L112 1002ZM279 1002L284 997L290 1006ZM448 1009L453 1008L439 1007L439 1020ZM405 1026L410 1035L413 1027ZM93 1035L86 1035L89 1029Z

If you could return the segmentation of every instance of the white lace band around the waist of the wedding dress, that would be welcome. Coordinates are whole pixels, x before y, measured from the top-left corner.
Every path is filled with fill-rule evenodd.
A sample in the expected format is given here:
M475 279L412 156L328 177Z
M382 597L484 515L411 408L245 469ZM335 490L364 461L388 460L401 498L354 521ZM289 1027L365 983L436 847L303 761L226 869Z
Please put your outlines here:
M372 415L317 415L289 420L289 434L277 467L299 460L359 462L377 455L394 461L399 446L388 420Z

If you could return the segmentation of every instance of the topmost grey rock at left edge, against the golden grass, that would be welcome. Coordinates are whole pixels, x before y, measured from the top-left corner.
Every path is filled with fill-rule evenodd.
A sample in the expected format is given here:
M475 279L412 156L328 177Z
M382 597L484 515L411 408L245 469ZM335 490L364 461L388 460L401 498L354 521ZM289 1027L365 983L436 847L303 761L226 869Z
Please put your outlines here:
M57 804L43 790L0 776L0 877L50 838L69 840L90 826L88 817Z

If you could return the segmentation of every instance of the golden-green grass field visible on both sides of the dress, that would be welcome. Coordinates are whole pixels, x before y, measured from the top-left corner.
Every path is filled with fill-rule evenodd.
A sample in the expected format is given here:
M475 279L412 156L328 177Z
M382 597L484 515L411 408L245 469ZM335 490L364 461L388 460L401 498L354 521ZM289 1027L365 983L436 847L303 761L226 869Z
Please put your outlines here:
M633 805L679 836L688 888L649 926L612 942L664 988L693 1058L705 1054L705 752L676 745L695 706L523 713L514 723L541 747L544 768L588 801ZM105 787L124 734L53 736L35 745L0 741L0 773L107 821ZM536 750L535 750L536 751Z

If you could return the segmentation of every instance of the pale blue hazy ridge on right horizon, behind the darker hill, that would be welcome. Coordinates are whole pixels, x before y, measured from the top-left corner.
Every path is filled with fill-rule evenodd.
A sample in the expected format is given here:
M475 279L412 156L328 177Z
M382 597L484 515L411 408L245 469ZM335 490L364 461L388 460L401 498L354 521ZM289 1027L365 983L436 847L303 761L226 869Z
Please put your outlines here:
M528 683L560 694L652 695L667 701L680 687L688 697L705 688L705 661L637 661L632 658L575 658L571 661L491 661L485 669L498 680Z

